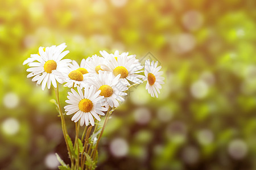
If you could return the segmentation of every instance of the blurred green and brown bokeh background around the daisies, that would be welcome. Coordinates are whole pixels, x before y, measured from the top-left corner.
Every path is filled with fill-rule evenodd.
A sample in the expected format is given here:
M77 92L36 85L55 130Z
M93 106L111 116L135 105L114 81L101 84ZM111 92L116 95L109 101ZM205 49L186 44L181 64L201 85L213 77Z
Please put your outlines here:
M27 79L24 59L66 42L65 58L100 50L155 58L159 99L145 84L114 112L98 169L256 169L256 2L0 2L0 169L69 163L53 89ZM61 87L61 103L68 88ZM75 127L66 116L69 134Z

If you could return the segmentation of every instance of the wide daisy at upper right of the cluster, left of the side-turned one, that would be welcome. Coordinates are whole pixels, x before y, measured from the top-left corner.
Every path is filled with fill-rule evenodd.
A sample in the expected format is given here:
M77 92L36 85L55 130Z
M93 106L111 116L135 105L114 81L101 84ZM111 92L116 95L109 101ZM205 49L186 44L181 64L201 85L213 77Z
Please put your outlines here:
M137 62L135 57L128 58L126 55L119 55L116 59L113 55L110 55L108 58L101 65L104 71L110 71L114 76L121 74L121 82L127 85L130 85L128 80L133 83L142 83L142 80L139 78L143 78L144 76L138 73L143 72L141 70L143 66Z

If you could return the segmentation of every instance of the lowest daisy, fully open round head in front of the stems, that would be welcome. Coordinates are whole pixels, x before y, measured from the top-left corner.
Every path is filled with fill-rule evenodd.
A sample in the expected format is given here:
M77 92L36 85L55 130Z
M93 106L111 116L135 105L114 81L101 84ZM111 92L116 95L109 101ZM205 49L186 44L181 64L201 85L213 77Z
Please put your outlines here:
M102 107L102 103L104 103L104 96L99 96L101 91L96 91L96 87L86 85L84 88L84 93L80 88L77 88L78 93L71 88L71 92L68 92L68 99L66 105L64 107L67 115L74 114L72 117L72 121L77 122L80 120L80 126L84 124L86 126L89 125L89 122L92 126L94 126L93 117L95 117L98 121L101 118L98 114L104 116L106 109Z

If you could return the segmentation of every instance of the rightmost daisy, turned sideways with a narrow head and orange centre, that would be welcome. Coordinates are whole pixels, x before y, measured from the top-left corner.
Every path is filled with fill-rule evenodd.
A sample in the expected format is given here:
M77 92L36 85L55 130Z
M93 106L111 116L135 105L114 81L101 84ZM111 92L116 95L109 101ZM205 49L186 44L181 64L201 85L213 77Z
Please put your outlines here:
M158 97L158 93L160 94L159 89L162 88L160 84L164 84L164 78L160 76L163 74L163 71L159 71L161 68L162 66L158 66L158 61L150 63L148 59L145 62L144 74L146 77L144 77L144 80L147 80L146 90L152 97Z

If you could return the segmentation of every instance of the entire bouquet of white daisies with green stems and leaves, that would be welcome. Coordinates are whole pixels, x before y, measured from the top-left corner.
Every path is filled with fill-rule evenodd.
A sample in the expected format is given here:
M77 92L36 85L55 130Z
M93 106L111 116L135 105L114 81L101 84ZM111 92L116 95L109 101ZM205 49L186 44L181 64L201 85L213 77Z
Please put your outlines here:
M65 164L56 154L60 162L59 169L95 169L98 157L98 143L110 114L119 106L127 91L132 86L147 82L146 90L152 97L158 97L164 78L158 62L147 60L144 66L135 55L128 53L109 54L101 51L102 57L94 55L82 59L80 65L71 59L63 59L69 51L64 49L65 43L58 46L40 47L38 54L31 54L23 62L28 64L32 78L36 84L42 84L42 90L51 88L56 92L56 106L61 118L61 127L71 165ZM144 70L143 70L144 69ZM143 75L144 73L144 75ZM60 105L59 84L71 88L68 100L65 100L65 113ZM73 142L68 135L65 118L73 115L76 137ZM104 123L99 124L101 118ZM79 133L80 126L84 126Z

